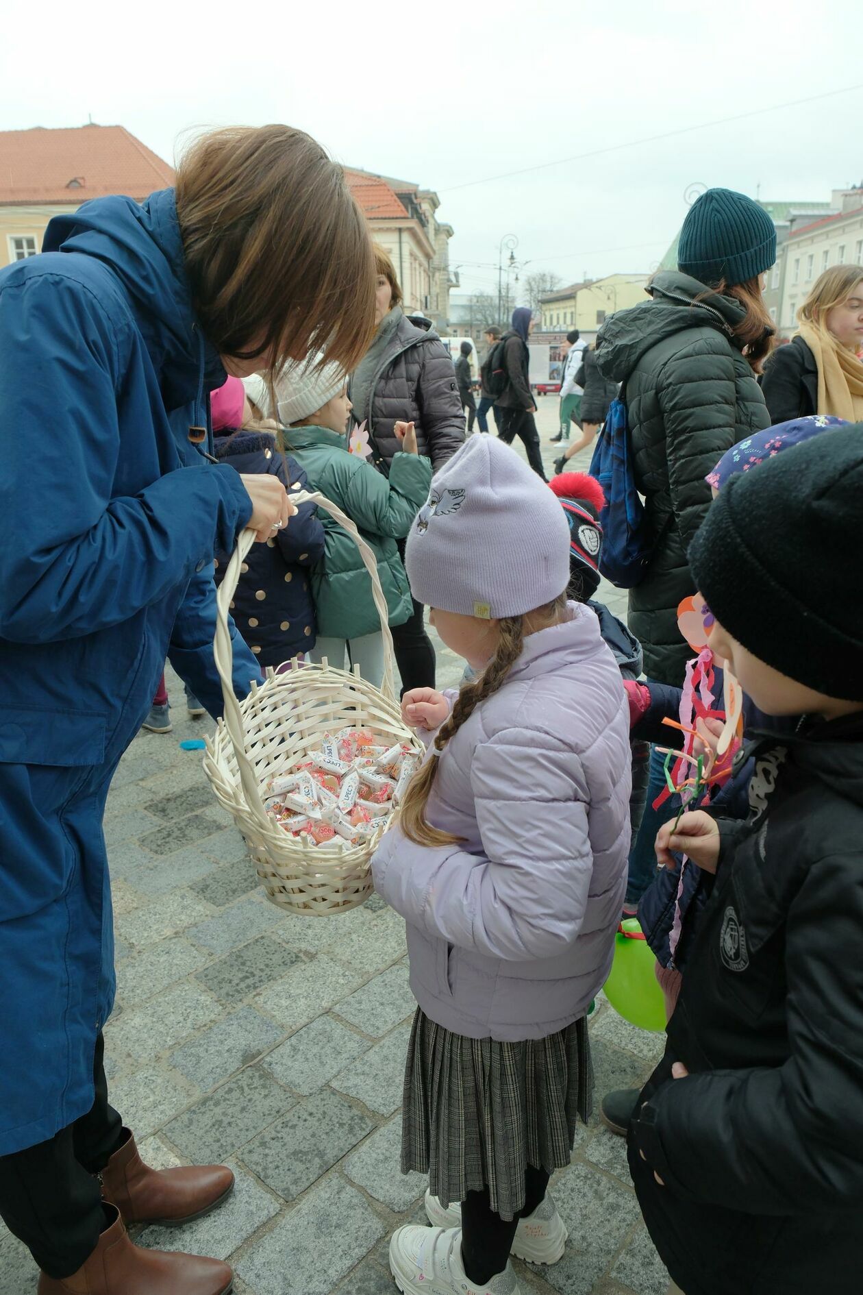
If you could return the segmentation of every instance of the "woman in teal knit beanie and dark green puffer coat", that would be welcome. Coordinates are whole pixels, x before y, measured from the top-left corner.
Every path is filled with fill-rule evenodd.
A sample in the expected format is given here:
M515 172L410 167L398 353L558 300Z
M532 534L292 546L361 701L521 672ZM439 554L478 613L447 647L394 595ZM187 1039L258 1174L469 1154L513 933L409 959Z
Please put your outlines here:
M648 680L660 684L682 685L690 655L677 609L695 593L686 552L710 506L706 474L726 449L770 423L756 374L771 337L762 276L775 256L767 212L741 193L708 189L683 223L679 269L656 275L651 300L618 311L596 339L599 373L622 383L652 543L629 591L628 623ZM648 807L665 785L662 761L653 750ZM653 877L657 828L648 808L630 856L633 903Z

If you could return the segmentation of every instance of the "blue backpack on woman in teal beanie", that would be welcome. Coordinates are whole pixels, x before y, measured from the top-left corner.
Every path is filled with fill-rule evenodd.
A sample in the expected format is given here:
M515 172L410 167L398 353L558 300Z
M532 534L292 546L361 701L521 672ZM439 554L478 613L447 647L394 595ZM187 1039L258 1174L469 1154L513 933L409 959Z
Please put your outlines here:
M599 514L603 528L599 571L618 588L631 589L644 576L653 543L648 543L644 505L635 490L633 447L622 396L621 390L621 395L612 400L590 461L590 475L596 478L606 495L606 506Z

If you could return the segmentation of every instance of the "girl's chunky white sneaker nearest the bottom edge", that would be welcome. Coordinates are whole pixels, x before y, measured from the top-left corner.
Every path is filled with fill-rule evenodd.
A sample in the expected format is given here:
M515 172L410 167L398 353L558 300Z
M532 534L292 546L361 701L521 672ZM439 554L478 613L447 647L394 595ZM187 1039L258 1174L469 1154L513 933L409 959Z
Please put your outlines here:
M400 1228L389 1242L389 1270L404 1295L524 1295L510 1263L488 1286L468 1281L461 1228Z

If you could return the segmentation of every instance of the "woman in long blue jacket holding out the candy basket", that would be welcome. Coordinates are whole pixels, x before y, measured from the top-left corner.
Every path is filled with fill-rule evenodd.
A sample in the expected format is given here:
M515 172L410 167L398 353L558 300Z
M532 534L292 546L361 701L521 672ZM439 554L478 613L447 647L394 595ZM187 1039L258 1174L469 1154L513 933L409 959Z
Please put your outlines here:
M146 1168L107 1103L102 811L166 654L220 712L212 556L292 513L276 477L208 461L208 392L323 338L351 368L373 319L342 168L281 126L206 136L176 189L85 203L0 272L0 1215L39 1295L232 1286L123 1229L197 1216L233 1177ZM239 640L234 662L245 694L259 667Z

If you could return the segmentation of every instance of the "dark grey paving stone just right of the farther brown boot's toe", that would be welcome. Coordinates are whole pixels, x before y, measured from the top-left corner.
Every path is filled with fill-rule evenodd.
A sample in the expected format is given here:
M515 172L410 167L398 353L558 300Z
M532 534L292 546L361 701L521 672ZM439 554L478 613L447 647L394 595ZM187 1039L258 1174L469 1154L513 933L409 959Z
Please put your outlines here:
M325 1089L254 1138L241 1158L268 1188L294 1200L373 1128L367 1115Z

